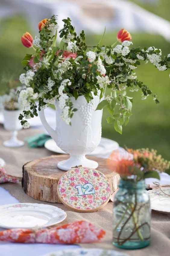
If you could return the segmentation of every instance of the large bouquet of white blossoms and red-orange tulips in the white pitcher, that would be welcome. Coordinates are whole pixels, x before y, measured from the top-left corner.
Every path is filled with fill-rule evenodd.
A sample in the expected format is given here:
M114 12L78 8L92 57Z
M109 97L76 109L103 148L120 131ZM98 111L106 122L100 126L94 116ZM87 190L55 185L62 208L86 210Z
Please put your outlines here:
M122 125L127 125L132 115L133 98L126 95L127 90L140 89L142 100L152 94L137 79L135 69L144 61L164 71L170 67L170 54L162 57L161 49L154 47L133 48L131 35L125 29L118 32L117 41L110 46L102 45L105 31L96 46L87 46L84 31L77 36L70 18L63 22L59 44L55 16L39 22L39 34L34 39L28 32L21 37L22 44L34 50L22 61L26 73L20 75L20 82L26 89L21 90L19 100L26 107L29 105L30 110L20 114L21 124L24 128L29 127L27 117L37 116L37 110L57 100L62 110L61 120L71 125L71 117L77 111L71 98L83 95L89 103L94 95L100 95L101 102L96 110L107 108L110 114L107 122L122 133ZM106 87L110 88L111 94L105 97ZM153 100L159 103L156 94L153 94Z

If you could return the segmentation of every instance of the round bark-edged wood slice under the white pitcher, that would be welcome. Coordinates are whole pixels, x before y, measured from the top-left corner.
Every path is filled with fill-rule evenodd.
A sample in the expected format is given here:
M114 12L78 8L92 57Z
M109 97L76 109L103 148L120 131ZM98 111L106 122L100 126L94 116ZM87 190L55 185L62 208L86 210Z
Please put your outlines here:
M55 155L39 158L23 166L22 186L24 192L40 201L61 203L57 194L57 184L65 173L57 168L59 161L68 159L68 155ZM88 159L99 163L97 170L102 172L111 185L111 194L118 189L119 175L107 168L106 159L90 157Z

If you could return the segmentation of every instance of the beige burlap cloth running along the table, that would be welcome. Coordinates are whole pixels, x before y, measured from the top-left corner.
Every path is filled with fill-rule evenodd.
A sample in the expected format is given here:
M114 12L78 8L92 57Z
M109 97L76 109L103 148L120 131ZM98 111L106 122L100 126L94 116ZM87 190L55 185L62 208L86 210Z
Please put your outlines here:
M33 136L35 134L41 133L41 130L27 129L21 130L19 132L19 139L24 140L27 136ZM29 162L33 159L40 157L50 156L52 153L45 148L33 148L30 149L25 144L20 148L7 148L2 145L2 142L8 139L10 136L9 132L3 129L3 126L0 125L0 157L2 157L6 166L5 169L8 174L15 176L22 176L22 166L25 162ZM3 188L8 190L11 195L17 198L20 202L29 202L29 203L45 203L32 199L26 195L21 187L21 184L12 184L6 183L1 184ZM3 196L3 195L0 195ZM7 202L8 203L8 202ZM49 204L49 203L47 203ZM116 249L112 246L112 202L109 202L102 210L93 213L77 213L71 212L68 208L62 204L52 204L57 207L65 210L67 212L66 222L74 222L76 220L86 220L92 222L93 224L103 228L106 231L106 236L104 240L100 243L95 244L81 244L82 247L90 248L107 248L107 249ZM140 250L123 250L126 251L129 255L170 255L170 216L161 214L158 212L152 212L152 228L151 228L151 245ZM95 256L95 255L94 255Z

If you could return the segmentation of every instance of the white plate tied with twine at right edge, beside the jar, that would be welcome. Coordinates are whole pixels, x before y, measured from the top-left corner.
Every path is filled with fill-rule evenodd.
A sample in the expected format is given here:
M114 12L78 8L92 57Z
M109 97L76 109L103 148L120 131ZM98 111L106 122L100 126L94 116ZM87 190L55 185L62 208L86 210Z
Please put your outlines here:
M170 213L170 185L164 185L160 189L149 190L151 209L157 212L169 214Z

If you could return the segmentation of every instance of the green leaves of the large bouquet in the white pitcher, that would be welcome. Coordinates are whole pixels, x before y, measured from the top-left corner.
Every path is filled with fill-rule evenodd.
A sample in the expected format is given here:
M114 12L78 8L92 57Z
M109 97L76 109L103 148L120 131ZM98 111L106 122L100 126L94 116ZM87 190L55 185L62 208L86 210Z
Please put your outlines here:
M77 36L77 34L74 31L74 28L71 25L71 20L65 19L64 21L64 30L61 31L61 33L65 33L65 35L63 36L64 38L67 38L68 34L73 35L73 38L71 38L71 42L76 41L77 43L77 48L78 50L76 51L78 55L82 55L83 58L79 61L79 64L81 66L81 68L79 69L79 72L76 73L75 69L77 68L77 66L75 65L74 67L74 61L71 61L73 68L74 68L74 72L72 73L71 71L68 72L66 74L65 77L63 77L63 79L67 79L71 78L71 86L67 88L67 91L65 91L65 93L67 93L69 95L69 97L71 97L72 95L77 98L79 95L84 95L87 102L90 102L93 99L93 94L96 95L97 91L100 90L100 98L102 99L102 97L104 96L104 89L105 88L100 88L98 85L96 85L96 76L100 75L99 72L97 72L97 65L96 63L89 63L87 57L86 57L86 51L87 51L87 44L85 42L85 35L84 35L84 31L82 31L80 33L80 36ZM47 78L49 77L49 75L51 76L51 79L54 79L54 74L53 74L53 69L54 67L56 67L58 65L58 57L55 56L55 52L56 50L58 51L61 45L58 46L57 48L52 48L52 44L54 41L54 37L51 36L50 31L49 31L49 26L52 23L56 23L56 19L53 16L49 23L47 24L47 26L42 29L42 31L40 32L40 38L41 38L41 46L42 48L46 51L46 54L44 56L44 58L46 58L47 61L49 61L49 65L45 65L43 64L43 67L41 68L41 74L40 72L37 72L37 76L35 77L35 80L33 81L33 83L31 84L31 87L34 88L34 92L36 93L40 93L44 86L47 84ZM104 41L104 38L103 38ZM62 39L63 42L63 39ZM66 50L67 48L67 43L64 43L62 46L61 50ZM109 45L109 44L108 44ZM110 45L112 45L112 43L110 43ZM52 48L52 52L49 51L49 48ZM123 58L120 54L117 53L112 53L112 47L111 46L105 46L106 48L106 54L108 57L112 57L112 59L114 60L114 63L116 64L120 64L120 63L124 63ZM95 51L97 54L99 54L99 52L101 51L101 48L99 46L96 47L90 47L89 50ZM147 48L144 50L146 51ZM75 49L73 50L75 52ZM150 51L150 54L152 53L156 53L159 54L159 50L153 50ZM126 56L126 58L132 58L133 61L136 61L136 63L134 64L134 66L139 66L140 65L140 61L137 59L137 54L141 54L144 58L146 58L146 53L142 52L142 48L131 48L130 53ZM34 62L38 63L39 61L39 55L40 55L40 51L39 49L36 50L36 53L34 53ZM62 56L62 52L58 54L60 57ZM126 91L123 90L122 88L124 86L127 86L128 88L126 89L128 91L128 89L130 90L134 90L134 89L138 89L140 88L143 95L144 96L148 96L150 95L152 92L151 90L145 85L143 84L143 82L140 82L137 79L131 79L131 75L134 74L133 70L128 70L127 72L127 67L128 64L124 63L124 65L121 67L122 70L120 72L119 70L119 66L115 66L113 65L107 65L107 63L105 62L104 58L102 56L100 56L105 68L106 68L106 74L109 76L109 80L112 81L110 84L107 85L107 87L109 89L112 90L112 93L115 93L116 91L116 96L113 95L112 100L106 105L106 107L104 108L105 110L108 110L109 114L110 114L110 119L107 119L107 121L110 123L111 120L114 120L115 122L115 127L117 127L116 129L119 130L119 133L121 132L121 126L123 125L127 125L128 121L129 121L129 117L131 116L131 107L132 107L132 99L129 98L129 96L126 96ZM27 57L28 58L28 57ZM29 69L28 67L28 61L27 59L24 60L23 64L25 66L25 69ZM165 57L162 59L161 61L161 65L165 64L168 65L168 57ZM112 68L113 67L113 68ZM87 74L87 72L89 72L89 76L86 76L86 79L82 79L82 75L84 74L83 68ZM47 72L48 69L48 72ZM51 71L52 72L51 72ZM93 79L92 79L93 78ZM117 83L118 82L118 83ZM78 86L80 85L80 86ZM118 86L119 85L119 86ZM54 97L56 96L56 94L58 93L58 86L59 84L56 83L56 88L53 91L53 94L49 94L46 93L44 94L43 97L50 99L50 97ZM106 87L106 86L105 86ZM120 88L118 88L120 87ZM136 96L135 96L136 97ZM159 101L157 100L157 98L155 97L155 94L153 94L153 99L155 100L156 103L159 103ZM113 104L111 103L113 102ZM39 101L40 106L43 106L43 100ZM129 115L129 116L128 116ZM111 123L114 123L111 122ZM118 129L119 127L119 129Z

